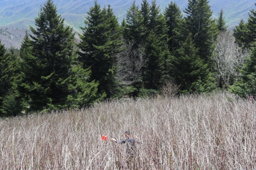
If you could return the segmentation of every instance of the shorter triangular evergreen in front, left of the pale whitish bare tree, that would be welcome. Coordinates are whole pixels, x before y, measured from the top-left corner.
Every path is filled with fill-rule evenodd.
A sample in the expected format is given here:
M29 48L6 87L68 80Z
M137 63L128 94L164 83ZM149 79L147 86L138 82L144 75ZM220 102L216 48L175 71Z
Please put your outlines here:
M182 47L178 49L179 57L176 58L174 66L174 80L177 84L181 84L182 94L205 93L214 88L207 64L200 58L198 52L199 49L195 47L189 34Z

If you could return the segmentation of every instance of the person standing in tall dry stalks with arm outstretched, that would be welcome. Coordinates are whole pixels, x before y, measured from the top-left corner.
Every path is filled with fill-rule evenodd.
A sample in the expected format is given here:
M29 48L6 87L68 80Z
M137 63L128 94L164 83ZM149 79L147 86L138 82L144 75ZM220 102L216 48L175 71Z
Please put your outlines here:
M110 140L112 140L118 144L126 143L126 154L128 154L130 156L134 156L135 143L141 143L141 142L139 141L139 138L136 136L134 136L134 138L132 138L130 131L125 131L124 135L125 135L125 139L122 141L118 141L114 138L111 138Z

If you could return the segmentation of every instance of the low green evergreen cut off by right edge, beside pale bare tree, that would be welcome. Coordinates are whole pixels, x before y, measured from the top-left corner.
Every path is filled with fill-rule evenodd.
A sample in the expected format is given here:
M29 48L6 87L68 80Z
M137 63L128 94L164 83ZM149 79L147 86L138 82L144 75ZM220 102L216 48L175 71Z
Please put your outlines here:
M254 43L254 46L256 44ZM252 47L251 57L247 58L244 67L239 68L242 79L235 81L229 90L241 97L256 96L256 48Z

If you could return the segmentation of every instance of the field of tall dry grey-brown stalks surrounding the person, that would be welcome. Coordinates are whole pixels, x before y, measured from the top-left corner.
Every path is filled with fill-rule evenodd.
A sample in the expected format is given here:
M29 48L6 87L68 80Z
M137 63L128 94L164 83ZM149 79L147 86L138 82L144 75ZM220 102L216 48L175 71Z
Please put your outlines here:
M231 94L111 101L0 129L1 169L256 169L255 105ZM126 146L109 141L125 130L142 142L130 164Z

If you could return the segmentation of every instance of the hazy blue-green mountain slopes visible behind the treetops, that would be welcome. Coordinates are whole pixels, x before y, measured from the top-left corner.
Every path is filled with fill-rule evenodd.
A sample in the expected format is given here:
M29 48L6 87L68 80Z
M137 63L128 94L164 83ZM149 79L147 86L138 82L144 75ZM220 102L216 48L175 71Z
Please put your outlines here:
M45 0L46 1L46 0ZM29 25L34 25L34 19L38 16L40 6L45 1L34 0L0 0L0 29L10 28L11 35L25 35L25 29L29 28ZM187 0L173 0L180 7L181 12L187 7ZM58 13L62 18L65 18L65 23L74 27L75 31L79 31L79 27L84 26L84 19L86 12L94 5L94 0L53 0L57 5ZM98 3L103 6L111 5L115 15L119 21L126 15L126 11L131 6L133 0L101 0ZM150 3L151 1L148 0ZM171 2L170 0L156 0L160 5L162 12L165 7ZM141 1L136 1L140 6ZM218 17L218 13L223 8L226 24L229 29L234 28L241 19L247 20L248 13L252 8L255 8L253 0L210 0L209 4L213 11L213 18ZM13 29L12 29L13 28ZM14 32L11 32L14 31ZM21 33L24 31L23 33ZM23 37L22 37L23 38ZM9 36L0 35L0 39L7 48L11 46L19 48L20 42L17 39L11 40ZM10 44L11 43L11 44Z

